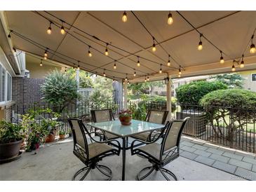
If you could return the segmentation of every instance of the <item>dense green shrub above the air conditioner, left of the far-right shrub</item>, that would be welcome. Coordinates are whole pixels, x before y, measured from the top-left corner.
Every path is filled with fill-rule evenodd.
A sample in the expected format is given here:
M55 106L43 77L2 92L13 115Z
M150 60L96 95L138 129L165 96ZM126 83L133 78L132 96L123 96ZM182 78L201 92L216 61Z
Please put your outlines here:
M181 85L176 89L177 102L180 104L198 105L204 95L214 90L227 89L220 81L196 81Z

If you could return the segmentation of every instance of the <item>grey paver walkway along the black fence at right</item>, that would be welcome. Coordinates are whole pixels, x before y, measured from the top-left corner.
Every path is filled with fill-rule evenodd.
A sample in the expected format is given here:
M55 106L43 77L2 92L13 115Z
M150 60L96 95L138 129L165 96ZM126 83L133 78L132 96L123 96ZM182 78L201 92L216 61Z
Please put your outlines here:
M256 154L182 137L180 156L248 180L256 180Z

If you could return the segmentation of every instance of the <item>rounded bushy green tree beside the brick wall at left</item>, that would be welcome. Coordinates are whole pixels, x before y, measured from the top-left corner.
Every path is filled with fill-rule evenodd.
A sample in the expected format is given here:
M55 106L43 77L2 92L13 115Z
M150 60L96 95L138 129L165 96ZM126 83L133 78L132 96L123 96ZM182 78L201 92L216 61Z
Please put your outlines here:
M65 105L78 97L76 80L61 71L53 71L41 85L43 100L49 104Z

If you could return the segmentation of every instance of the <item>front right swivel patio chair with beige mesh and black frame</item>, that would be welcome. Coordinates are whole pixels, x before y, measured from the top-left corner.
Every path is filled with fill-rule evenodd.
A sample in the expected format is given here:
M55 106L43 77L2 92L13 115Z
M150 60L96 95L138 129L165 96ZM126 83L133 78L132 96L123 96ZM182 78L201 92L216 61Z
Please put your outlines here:
M134 140L132 142L130 148L132 156L140 155L144 158L147 158L152 164L152 166L145 167L137 174L138 180L145 179L149 176L149 174L151 174L151 172L156 170L161 172L166 180L170 180L166 176L166 174L169 174L177 181L177 177L175 176L175 174L173 174L173 172L170 172L170 170L163 168L163 166L167 165L171 161L175 160L175 158L178 158L180 156L180 138L182 136L182 130L184 128L184 125L186 124L188 119L189 117L184 118L184 120L175 120L171 121L170 123L166 123L166 128L161 131L161 134L158 138L154 140L154 142L146 142L141 140ZM165 130L166 134L161 140L161 143L157 143L157 141L161 139L161 135L163 135L163 132L165 132ZM135 148L135 142L143 142L147 145ZM149 172L141 176L142 172L144 172L145 170L149 170Z

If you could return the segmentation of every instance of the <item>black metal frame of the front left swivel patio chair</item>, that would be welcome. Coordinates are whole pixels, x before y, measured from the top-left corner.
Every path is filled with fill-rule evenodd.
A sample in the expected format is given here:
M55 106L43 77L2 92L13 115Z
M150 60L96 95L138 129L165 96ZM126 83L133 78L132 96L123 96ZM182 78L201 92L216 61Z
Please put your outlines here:
M81 129L81 132L83 134L83 142L84 142L85 148L80 146L76 141L76 132L74 130L72 121L77 121L78 124L79 124L79 128ZM88 173L90 172L90 170L93 170L95 168L97 168L97 170L99 170L102 174L107 176L107 178L108 178L107 180L111 180L112 179L112 170L110 170L109 167L107 167L105 165L98 164L98 162L100 160L102 160L102 158L105 158L107 156L113 156L113 155L119 156L120 151L121 151L121 144L118 141L114 140L114 139L105 140L104 142L96 141L91 136L91 134L93 134L95 132L89 132L88 129L86 128L86 125L84 125L83 122L81 121L81 119L79 119L79 118L68 118L68 122L69 122L69 125L72 129L72 132L73 132L73 139L74 139L73 153L77 158L79 158L79 160L81 160L81 162L83 162L86 165L86 167L81 168L80 170L78 170L74 174L74 176L72 177L72 180L75 180L76 177L81 172L86 170L86 173L83 174L83 177L81 177L80 180L85 179L86 176L88 175ZM109 144L110 142L116 142L118 148L117 149L112 148L108 151L97 154L97 156L94 156L93 158L89 158L89 149L88 149L88 142L87 142L87 139L86 139L86 134L90 137L91 142L97 142L99 144ZM102 134L104 135L104 132Z

